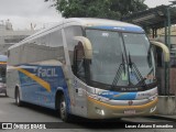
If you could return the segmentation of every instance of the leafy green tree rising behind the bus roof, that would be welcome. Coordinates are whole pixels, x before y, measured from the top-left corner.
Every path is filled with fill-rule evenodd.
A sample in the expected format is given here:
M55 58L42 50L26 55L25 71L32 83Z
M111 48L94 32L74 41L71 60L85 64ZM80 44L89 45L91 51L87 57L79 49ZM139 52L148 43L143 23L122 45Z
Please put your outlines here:
M106 18L118 20L123 15L147 9L145 0L44 0L65 18Z

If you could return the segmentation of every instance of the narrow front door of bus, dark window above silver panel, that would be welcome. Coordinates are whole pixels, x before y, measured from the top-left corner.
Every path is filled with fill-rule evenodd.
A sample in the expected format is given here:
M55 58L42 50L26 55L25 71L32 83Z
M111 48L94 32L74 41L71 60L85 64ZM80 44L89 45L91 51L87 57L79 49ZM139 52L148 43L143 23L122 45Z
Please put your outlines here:
M75 111L79 116L87 113L87 96L86 96L86 74L85 74L85 52L81 42L75 46L73 72L76 76L74 78L74 97L75 97Z

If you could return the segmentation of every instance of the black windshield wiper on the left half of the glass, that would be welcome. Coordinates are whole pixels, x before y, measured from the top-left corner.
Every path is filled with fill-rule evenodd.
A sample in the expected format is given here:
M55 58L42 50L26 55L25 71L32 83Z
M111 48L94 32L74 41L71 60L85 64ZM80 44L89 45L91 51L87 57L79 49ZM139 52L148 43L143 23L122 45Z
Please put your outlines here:
M113 79L112 85L111 85L111 89L113 89L117 86L117 84L119 81L119 78L120 78L120 76L122 74L122 70L124 72L124 76L125 76L127 72L125 72L125 63L124 63L123 54L122 54L122 63L120 64L120 66L118 68L118 72L117 72L117 74L114 76L114 79Z

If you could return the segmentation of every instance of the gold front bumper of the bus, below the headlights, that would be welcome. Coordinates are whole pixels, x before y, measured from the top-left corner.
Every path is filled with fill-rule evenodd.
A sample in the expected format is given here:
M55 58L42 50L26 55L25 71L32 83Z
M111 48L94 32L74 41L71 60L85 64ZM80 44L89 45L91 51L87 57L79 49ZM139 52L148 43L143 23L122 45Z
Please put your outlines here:
M112 106L88 97L89 119L113 119L123 117L152 116L156 112L157 98L140 106Z

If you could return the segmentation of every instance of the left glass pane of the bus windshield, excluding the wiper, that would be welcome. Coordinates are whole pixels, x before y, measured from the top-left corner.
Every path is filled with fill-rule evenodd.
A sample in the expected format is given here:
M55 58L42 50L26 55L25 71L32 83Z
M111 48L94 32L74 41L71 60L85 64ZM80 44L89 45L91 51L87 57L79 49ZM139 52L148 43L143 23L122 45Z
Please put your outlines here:
M91 80L111 85L120 67L123 46L118 32L87 30L87 37L92 44L90 64ZM120 77L118 85L127 86L128 78Z

